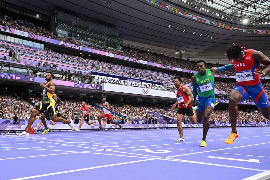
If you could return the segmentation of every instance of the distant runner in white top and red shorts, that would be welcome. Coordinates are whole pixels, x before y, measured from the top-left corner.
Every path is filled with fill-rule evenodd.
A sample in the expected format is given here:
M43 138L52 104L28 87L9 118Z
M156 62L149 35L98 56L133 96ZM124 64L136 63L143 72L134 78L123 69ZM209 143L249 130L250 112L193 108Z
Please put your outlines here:
M102 125L101 125L101 118L107 118L111 124L118 125L120 129L123 129L122 125L119 125L117 122L113 120L112 113L110 112L110 104L106 102L106 98L102 98L102 107L103 107L103 113L98 115L98 122L99 122L99 128L98 130L102 130Z

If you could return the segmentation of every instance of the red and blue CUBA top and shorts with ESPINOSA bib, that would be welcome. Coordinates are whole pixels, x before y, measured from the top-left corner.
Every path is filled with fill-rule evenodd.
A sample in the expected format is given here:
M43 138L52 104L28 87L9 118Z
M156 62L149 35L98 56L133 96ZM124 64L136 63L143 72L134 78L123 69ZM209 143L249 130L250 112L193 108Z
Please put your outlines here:
M258 108L267 108L269 106L267 95L262 88L259 75L254 74L255 69L260 69L260 63L252 58L253 51L253 49L247 49L242 61L230 60L235 69L237 81L233 91L237 90L241 93L242 101L251 97Z

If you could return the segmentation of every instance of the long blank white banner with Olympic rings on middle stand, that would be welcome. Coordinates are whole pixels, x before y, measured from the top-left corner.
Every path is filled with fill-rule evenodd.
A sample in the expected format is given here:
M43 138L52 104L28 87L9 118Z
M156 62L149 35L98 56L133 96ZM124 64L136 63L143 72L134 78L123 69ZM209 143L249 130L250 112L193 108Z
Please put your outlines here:
M137 88L125 85L103 83L102 91L122 92L136 95L157 96L165 98L176 98L175 94L171 91L160 91L156 89Z

